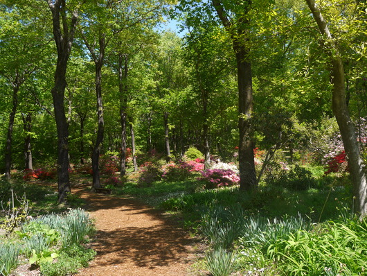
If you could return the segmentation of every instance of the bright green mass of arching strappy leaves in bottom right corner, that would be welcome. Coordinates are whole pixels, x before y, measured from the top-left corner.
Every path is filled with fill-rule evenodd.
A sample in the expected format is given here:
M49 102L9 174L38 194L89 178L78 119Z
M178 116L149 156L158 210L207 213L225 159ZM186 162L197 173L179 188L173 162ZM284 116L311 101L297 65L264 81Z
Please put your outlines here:
M361 275L367 266L366 220L348 219L272 241L267 256L287 275Z

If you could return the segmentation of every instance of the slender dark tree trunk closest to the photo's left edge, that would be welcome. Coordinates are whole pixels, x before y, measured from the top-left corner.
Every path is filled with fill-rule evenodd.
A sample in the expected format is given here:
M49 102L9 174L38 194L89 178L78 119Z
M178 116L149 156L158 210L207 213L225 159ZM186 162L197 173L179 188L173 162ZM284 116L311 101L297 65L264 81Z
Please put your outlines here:
M10 180L10 170L12 166L12 130L14 128L15 114L18 107L18 92L19 85L15 84L12 88L12 111L9 115L8 134L6 136L6 148L5 148L5 177Z

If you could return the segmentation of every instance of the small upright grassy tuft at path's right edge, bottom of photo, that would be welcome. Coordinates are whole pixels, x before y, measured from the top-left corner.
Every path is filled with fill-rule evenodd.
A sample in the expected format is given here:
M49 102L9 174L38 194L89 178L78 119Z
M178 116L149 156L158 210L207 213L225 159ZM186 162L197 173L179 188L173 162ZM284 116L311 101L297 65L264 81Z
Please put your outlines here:
M206 255L206 268L213 276L229 276L236 269L235 255L223 248L218 248Z

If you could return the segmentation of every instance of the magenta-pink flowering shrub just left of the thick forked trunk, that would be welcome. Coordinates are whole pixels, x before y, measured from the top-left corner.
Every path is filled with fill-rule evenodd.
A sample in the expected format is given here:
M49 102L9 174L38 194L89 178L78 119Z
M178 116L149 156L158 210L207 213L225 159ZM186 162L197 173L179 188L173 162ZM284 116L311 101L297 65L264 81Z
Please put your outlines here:
M204 182L205 189L229 187L240 182L240 177L232 170L208 169L201 171L202 177L198 180Z

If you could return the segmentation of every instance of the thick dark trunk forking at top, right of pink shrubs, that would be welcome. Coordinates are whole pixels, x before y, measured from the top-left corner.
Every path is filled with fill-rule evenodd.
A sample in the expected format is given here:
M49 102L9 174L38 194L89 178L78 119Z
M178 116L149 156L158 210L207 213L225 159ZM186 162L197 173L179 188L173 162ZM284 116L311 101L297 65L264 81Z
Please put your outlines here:
M212 0L218 17L224 28L231 35L233 51L237 61L238 78L238 128L240 132L240 145L238 158L240 163L240 189L248 191L257 187L255 162L253 158L253 140L251 137L251 117L253 112L251 62L249 62L249 48L246 45L248 19L241 17L236 26L233 26L220 0ZM250 6L250 1L247 1ZM247 8L249 9L249 8ZM245 10L247 13L249 10Z

